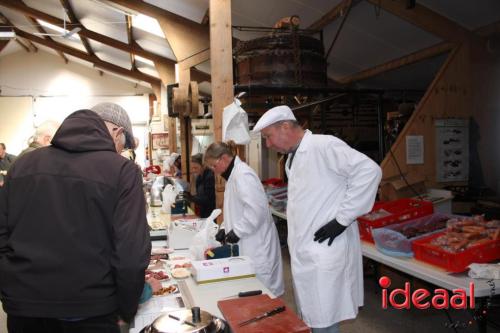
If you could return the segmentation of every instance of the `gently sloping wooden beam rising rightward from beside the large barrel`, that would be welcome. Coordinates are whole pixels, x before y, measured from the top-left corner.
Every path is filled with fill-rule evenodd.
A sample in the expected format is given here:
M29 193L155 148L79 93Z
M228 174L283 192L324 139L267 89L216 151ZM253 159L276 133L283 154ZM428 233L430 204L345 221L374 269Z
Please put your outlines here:
M364 80L379 74L382 74L384 72L403 67L409 64L413 64L416 62L419 62L421 60L435 57L439 54L451 51L455 47L454 43L440 43L431 47L428 47L426 49L413 52L409 55L400 57L398 59L394 59L391 61L388 61L386 63L377 65L375 67L369 68L362 70L361 72L357 72L351 75L347 75L341 79L338 80L339 83L341 84L349 84L355 81L360 81Z

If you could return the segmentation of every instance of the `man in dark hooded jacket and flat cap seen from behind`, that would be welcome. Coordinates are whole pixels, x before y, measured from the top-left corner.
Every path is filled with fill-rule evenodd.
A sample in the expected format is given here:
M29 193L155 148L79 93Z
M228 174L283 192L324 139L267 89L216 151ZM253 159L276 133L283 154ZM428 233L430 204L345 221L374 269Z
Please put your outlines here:
M101 103L68 116L0 189L0 298L9 332L119 332L151 242L130 119ZM118 153L117 153L118 152Z

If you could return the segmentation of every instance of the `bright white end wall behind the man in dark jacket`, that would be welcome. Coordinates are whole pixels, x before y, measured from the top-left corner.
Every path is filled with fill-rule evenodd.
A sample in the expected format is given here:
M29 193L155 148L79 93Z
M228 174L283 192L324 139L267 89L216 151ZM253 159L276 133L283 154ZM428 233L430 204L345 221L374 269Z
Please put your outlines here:
M72 58L65 64L42 50L1 57L0 89L0 142L9 153L24 149L35 126L44 120L62 121L73 111L106 101L128 111L140 141L137 161L144 164L151 89L114 75L101 76Z

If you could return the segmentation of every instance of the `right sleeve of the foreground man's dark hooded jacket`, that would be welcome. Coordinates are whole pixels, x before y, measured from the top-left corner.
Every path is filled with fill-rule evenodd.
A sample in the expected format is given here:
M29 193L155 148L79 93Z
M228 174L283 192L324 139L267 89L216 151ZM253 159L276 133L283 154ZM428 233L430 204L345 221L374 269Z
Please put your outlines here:
M118 202L113 217L115 273L120 317L129 322L137 312L149 264L151 240L139 169L127 161L121 172Z

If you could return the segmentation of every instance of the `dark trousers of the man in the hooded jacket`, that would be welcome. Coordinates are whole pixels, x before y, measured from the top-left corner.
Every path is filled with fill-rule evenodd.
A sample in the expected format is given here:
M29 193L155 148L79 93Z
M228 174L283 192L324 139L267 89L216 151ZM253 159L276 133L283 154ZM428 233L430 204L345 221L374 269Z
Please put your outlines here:
M78 321L7 315L7 330L9 333L120 333L116 314Z

